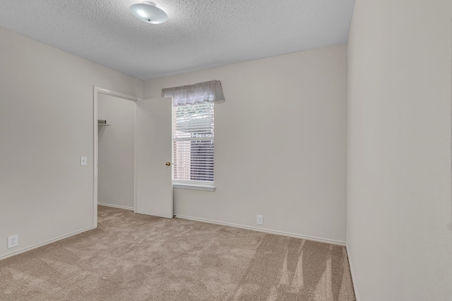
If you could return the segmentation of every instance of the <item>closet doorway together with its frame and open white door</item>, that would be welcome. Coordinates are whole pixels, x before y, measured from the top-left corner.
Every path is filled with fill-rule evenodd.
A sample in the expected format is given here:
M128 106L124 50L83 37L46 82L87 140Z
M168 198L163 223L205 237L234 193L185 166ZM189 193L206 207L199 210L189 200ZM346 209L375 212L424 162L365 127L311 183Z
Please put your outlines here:
M104 106L102 103L108 103ZM101 106L102 112L99 111ZM124 118L124 110L133 112L131 119ZM109 111L110 119L102 115ZM97 204L99 197L110 198L108 202L100 199L101 204L131 209L131 178L133 178L133 211L171 219L173 217L172 199L172 98L140 99L100 87L93 89L93 222L97 225ZM100 116L105 119L100 120ZM126 118L127 119L127 118ZM116 124L114 124L116 123ZM98 125L100 124L100 128ZM124 128L119 128L123 125ZM116 130L112 130L113 128ZM128 128L129 130L125 129ZM133 128L133 130L130 130ZM107 134L107 131L108 134ZM124 133L123 133L124 132ZM133 134L131 134L133 132ZM102 145L100 145L100 138ZM109 158L99 160L100 147L109 152L118 143L118 147ZM133 159L131 159L133 144ZM105 159L105 161L104 161ZM119 162L124 161L124 162ZM101 163L101 165L100 165ZM99 179L99 166L107 166L109 171L119 172L116 176L105 175ZM117 166L118 165L118 166ZM122 167L121 167L122 166ZM133 171L133 176L132 176ZM124 173L124 174L121 174ZM109 181L112 181L109 183ZM124 181L124 183L121 183ZM115 183L126 187L125 194L114 188ZM124 184L124 185L123 185ZM99 185L102 192L99 193ZM127 195L129 193L129 196ZM129 199L129 201L127 201ZM124 202L124 200L126 202Z

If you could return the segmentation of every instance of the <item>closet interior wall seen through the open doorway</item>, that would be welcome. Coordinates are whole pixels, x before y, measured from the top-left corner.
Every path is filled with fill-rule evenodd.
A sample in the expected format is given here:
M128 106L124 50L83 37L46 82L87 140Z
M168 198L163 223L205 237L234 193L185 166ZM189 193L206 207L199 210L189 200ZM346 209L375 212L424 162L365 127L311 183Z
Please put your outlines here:
M97 102L98 118L109 124L98 129L97 201L133 209L135 102L105 94Z

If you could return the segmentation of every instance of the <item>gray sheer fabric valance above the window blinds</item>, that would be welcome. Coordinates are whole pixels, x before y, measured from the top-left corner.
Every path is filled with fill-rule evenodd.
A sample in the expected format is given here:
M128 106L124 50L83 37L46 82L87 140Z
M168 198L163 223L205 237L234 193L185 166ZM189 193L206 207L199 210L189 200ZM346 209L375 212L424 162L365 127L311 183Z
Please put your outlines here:
M194 85L162 89L162 97L172 97L173 106L201 104L203 102L225 102L220 80L198 82Z

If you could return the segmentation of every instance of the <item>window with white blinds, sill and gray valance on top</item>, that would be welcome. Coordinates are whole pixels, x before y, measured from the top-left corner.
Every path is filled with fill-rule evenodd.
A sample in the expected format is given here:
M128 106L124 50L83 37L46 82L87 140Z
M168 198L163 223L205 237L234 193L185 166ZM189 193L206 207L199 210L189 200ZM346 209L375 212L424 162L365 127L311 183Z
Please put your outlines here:
M214 104L225 102L219 80L162 89L173 99L174 188L214 190Z

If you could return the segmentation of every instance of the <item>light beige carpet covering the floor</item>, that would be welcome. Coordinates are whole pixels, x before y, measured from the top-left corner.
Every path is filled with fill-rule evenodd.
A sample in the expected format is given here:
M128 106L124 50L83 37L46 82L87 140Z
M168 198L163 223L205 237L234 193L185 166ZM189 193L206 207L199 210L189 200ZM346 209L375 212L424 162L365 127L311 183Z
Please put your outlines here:
M355 300L345 247L99 207L99 228L0 261L0 300Z

